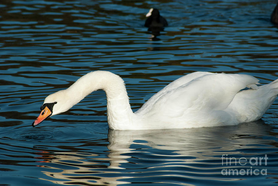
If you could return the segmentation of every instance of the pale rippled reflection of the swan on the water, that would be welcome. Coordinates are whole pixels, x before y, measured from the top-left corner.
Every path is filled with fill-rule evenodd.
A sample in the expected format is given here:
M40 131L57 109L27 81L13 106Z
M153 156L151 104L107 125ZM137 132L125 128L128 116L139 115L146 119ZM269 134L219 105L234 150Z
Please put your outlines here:
M273 141L262 137L269 136L270 132L273 132L272 127L262 120L225 127L109 130L108 151L103 152L108 153L107 158L103 156L99 158L98 154L84 150L61 151L54 155L46 153L41 158L45 159L44 162L49 162L49 165L44 166L48 170L43 173L50 178L45 179L44 176L41 179L67 185L118 185L131 183L132 178L140 177L142 172L148 171L150 176L160 175L166 179L170 176L169 172L172 172L171 176L176 175L187 179L200 177L239 180L240 178L235 176L221 175L221 169L225 168L225 165L221 165L222 154L241 157L246 153L252 156L259 155L252 154L251 149L266 148L265 145L262 147L260 144L269 144L271 148ZM248 155L246 155L247 159ZM153 163L152 160L159 160L159 162ZM144 165L145 161L150 163ZM173 171L173 166L180 167L179 171ZM49 168L55 171L49 171ZM126 170L123 171L124 169ZM134 169L137 171L135 172ZM138 169L141 174L138 173Z

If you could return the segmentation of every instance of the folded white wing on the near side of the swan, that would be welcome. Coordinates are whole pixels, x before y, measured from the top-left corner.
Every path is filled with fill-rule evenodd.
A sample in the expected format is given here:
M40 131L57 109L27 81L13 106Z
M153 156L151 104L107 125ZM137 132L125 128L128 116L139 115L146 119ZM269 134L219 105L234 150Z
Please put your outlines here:
M188 74L190 75L190 74ZM148 117L176 118L190 114L224 110L238 91L257 88L257 78L246 74L199 73L172 82L149 99L140 110ZM192 79L191 79L192 78ZM183 84L180 82L183 79ZM189 80L189 81L188 81ZM196 114L198 116L198 114Z

